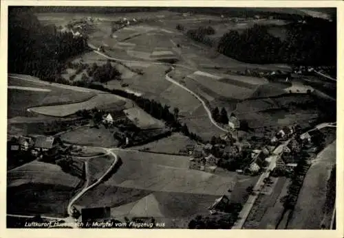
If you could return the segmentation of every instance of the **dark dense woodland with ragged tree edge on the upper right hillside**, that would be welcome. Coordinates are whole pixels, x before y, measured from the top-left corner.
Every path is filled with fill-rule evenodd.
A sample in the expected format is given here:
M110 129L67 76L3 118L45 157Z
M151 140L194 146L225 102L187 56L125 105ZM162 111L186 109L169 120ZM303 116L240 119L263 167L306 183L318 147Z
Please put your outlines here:
M304 18L305 22L293 21L286 25L286 40L272 36L268 27L255 24L239 34L230 30L219 40L212 27L189 29L186 36L211 47L219 53L242 62L293 65L336 65L336 22ZM178 24L177 29L184 30Z

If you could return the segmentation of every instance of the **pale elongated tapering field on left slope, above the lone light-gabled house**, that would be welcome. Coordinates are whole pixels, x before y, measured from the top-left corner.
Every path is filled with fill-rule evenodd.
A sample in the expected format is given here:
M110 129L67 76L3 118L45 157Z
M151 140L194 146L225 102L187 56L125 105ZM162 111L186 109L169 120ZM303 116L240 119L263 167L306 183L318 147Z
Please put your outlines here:
M78 110L91 110L95 107L103 110L123 110L126 108L126 104L127 102L123 101L116 95L100 93L85 102L56 106L40 106L30 108L30 110L41 115L67 117L69 115L73 115Z

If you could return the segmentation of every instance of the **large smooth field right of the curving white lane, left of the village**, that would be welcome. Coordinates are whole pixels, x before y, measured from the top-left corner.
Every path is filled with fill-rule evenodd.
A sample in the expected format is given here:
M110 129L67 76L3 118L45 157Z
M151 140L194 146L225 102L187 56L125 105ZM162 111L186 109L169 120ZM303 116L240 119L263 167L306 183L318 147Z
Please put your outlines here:
M189 157L145 152L114 152L123 164L105 185L151 191L222 195L233 186L233 178L215 176L189 168ZM149 165L149 166L147 166Z

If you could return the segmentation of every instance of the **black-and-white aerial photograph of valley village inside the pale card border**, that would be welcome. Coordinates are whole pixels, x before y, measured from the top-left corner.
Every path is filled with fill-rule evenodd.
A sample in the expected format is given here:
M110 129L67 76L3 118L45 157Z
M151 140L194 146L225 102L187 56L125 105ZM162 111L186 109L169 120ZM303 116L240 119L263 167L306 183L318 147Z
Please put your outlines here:
M6 17L7 228L336 230L336 8Z

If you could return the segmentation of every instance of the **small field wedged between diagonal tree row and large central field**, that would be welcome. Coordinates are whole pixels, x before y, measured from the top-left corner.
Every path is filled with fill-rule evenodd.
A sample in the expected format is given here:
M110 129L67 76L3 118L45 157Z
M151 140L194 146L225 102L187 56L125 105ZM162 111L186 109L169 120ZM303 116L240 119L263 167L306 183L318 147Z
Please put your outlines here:
M171 136L153 141L151 143L131 147L134 150L149 150L150 152L166 153L166 154L180 154L180 150L185 150L186 145L193 145L189 137L180 133L173 133Z

